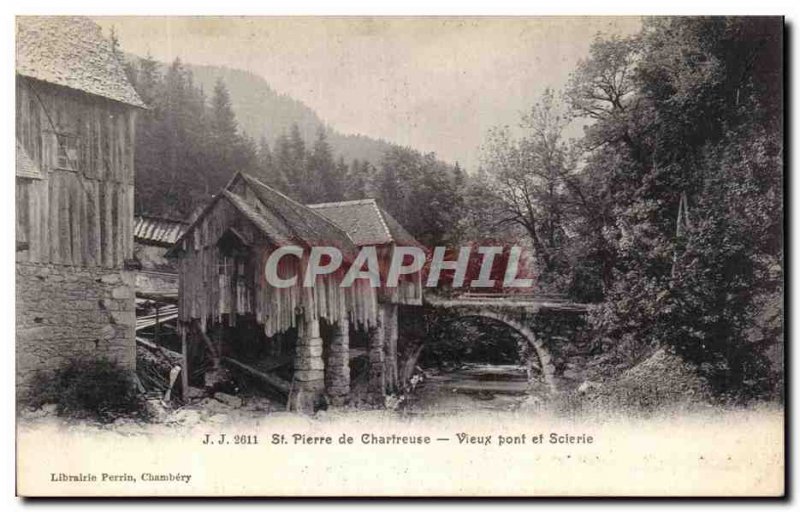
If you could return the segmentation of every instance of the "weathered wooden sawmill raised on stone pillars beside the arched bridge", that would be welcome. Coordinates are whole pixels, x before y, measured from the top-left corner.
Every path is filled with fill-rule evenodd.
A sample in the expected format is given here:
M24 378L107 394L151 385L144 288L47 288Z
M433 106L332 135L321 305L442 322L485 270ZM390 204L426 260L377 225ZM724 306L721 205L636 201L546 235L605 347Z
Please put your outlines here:
M416 241L374 204L365 204L363 226L350 222L356 206L362 205L310 208L241 173L214 197L170 250L180 276L184 386L204 385L228 364L284 389L291 410L312 411L323 397L343 404L351 391L350 340L357 336L367 340L370 400L383 404L396 382L390 348L396 305L421 304L420 277L410 274L392 290L373 288L365 278L340 284L361 246L376 247L383 271L395 243ZM265 278L265 263L286 245L303 254L280 260L278 275L298 280L279 288ZM310 249L320 246L338 248L344 265L304 287ZM207 369L206 380L189 382L197 368Z

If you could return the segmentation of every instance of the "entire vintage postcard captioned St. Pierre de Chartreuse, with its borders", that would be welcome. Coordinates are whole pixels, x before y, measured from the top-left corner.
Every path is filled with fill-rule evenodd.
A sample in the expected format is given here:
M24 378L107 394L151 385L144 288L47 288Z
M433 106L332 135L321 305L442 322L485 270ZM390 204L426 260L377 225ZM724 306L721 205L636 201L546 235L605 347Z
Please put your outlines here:
M18 16L25 497L781 497L781 17Z

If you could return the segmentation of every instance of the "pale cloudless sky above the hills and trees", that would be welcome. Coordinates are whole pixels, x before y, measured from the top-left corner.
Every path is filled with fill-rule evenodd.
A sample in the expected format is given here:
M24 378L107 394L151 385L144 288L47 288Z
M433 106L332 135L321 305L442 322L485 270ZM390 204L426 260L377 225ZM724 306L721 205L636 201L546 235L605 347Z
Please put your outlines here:
M468 169L490 128L517 126L546 88L563 88L598 33L640 27L637 17L95 20L127 52L251 71L340 132Z

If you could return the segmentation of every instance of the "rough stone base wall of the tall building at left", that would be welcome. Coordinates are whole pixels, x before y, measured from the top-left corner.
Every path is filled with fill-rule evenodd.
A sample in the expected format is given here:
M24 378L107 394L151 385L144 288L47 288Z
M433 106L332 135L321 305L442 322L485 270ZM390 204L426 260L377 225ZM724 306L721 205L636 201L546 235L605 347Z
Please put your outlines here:
M72 358L136 367L134 274L101 267L17 263L17 392Z

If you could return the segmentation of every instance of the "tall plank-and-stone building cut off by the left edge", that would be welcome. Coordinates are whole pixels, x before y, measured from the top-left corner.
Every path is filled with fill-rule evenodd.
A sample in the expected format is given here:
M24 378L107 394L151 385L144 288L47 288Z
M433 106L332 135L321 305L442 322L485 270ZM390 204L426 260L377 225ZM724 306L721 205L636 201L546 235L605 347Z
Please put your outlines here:
M19 17L16 372L72 358L135 367L135 117L144 104L91 20Z

